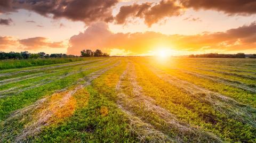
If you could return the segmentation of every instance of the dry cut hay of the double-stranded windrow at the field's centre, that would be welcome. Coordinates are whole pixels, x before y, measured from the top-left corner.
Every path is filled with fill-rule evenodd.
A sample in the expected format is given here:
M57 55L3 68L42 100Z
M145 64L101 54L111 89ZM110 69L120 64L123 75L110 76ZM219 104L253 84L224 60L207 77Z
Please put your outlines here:
M132 85L133 93L131 96L124 94L123 93L124 91L122 91L123 86L125 87L127 86L127 85L124 85L124 82L127 82L127 80L129 80L129 82ZM118 106L119 108L121 108L121 110L123 110L126 114L129 115L131 122L134 122L131 119L132 117L133 119L135 117L140 119L142 122L145 122L144 120L146 116L143 117L141 115L138 116L138 114L136 114L137 110L142 110L145 114L157 115L165 123L165 127L163 128L168 128L169 131L174 131L177 133L177 134L173 134L172 136L170 136L170 134L169 136L167 136L165 133L169 133L169 131L167 132L165 131L165 133L161 132L161 134L162 135L164 134L164 136L161 136L162 138L159 138L157 142L162 142L163 139L167 139L171 142L186 142L185 140L183 140L185 138L190 141L193 141L193 140L206 141L207 139L212 139L212 140L215 140L216 142L221 142L221 140L218 137L214 136L214 134L212 133L199 131L198 129L189 127L189 125L185 123L180 123L175 117L175 115L171 114L169 111L165 110L164 108L156 105L154 103L155 102L154 99L143 95L142 87L140 87L136 81L136 73L135 73L134 65L132 65L131 63L127 66L127 69L121 75L120 80L116 86L116 90L118 92L118 97L119 97L119 100L117 102ZM154 127L154 125L151 125L151 124L148 127L153 128L153 130L156 129L156 127ZM147 129L145 129L145 131L140 131L140 132L146 132L148 130L148 127ZM155 136L158 137L159 134L156 133ZM140 137L145 137L145 136L139 135L139 139L143 140L143 138L140 138Z

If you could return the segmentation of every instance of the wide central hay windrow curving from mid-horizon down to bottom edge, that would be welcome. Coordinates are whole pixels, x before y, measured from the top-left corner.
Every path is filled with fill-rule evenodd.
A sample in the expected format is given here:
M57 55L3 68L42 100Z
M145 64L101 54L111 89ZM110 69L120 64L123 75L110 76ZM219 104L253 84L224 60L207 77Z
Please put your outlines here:
M156 105L154 99L143 95L142 87L138 85L136 78L134 65L129 63L116 86L119 97L117 104L128 115L131 122L131 130L139 134L141 142L145 141L146 138L153 139L151 142L200 142L209 139L221 142L214 134L181 123L175 115ZM129 84L131 91L127 93ZM157 116L161 121L155 121L152 119L153 116L148 115ZM154 124L154 122L159 123ZM161 125L161 122L164 125ZM185 138L187 139L186 141L184 140Z

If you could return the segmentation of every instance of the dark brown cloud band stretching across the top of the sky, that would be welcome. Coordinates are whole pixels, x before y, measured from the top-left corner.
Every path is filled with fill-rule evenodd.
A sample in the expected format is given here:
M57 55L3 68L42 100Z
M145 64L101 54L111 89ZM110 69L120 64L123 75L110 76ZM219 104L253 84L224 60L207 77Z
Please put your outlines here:
M129 22L129 19L141 18L148 27L163 19L178 16L189 8L221 11L228 15L251 15L256 13L255 0L161 0L157 3L146 2L121 6L114 18L112 11L119 2L123 1L1 0L0 13L17 12L19 9L25 9L54 19L66 18L72 21L83 21L87 25L95 22L113 21L117 24L125 24Z

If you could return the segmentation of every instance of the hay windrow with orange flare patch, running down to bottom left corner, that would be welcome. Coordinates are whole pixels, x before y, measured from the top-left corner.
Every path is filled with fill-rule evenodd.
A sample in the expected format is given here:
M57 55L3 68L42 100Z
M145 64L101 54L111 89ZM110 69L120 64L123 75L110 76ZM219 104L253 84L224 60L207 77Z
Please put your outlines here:
M30 106L13 112L2 123L4 127L0 130L2 137L0 138L0 142L3 142L6 138L11 138L10 140L15 140L15 142L24 142L27 137L35 136L45 126L53 123L55 120L59 120L59 117L56 116L56 114L60 114L58 112L68 112L66 114L69 115L73 114L75 110L75 107L73 107L75 106L73 104L75 102L73 95L77 90L90 85L94 79L118 66L120 63L121 61L117 61L113 65L86 75L84 80L74 83L74 88L71 90L68 90L69 87L59 90L51 96L40 99ZM25 128L20 129L20 123L24 124L23 127Z

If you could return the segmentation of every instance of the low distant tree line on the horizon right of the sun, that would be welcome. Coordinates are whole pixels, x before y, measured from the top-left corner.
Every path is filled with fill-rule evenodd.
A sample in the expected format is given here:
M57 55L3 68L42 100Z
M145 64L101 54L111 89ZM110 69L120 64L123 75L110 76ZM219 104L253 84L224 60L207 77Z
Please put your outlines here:
M207 58L256 58L256 54L218 54L218 53L209 53L209 54L198 54L198 55L189 55L188 57L207 57Z

